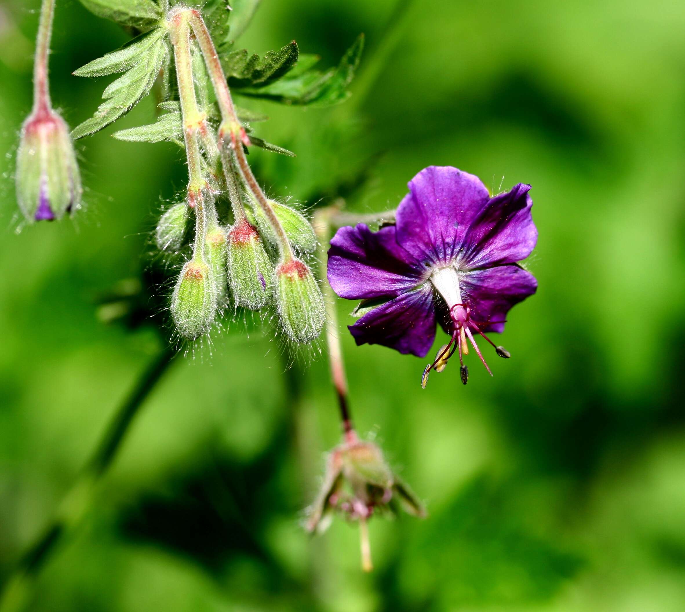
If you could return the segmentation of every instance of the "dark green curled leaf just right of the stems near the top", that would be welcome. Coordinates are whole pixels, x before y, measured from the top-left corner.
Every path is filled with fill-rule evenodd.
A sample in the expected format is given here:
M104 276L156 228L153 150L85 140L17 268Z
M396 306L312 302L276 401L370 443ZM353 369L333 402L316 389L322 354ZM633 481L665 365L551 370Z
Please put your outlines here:
M286 74L297 64L297 42L288 42L277 51L269 51L263 58L247 49L232 51L223 58L223 68L229 83L236 87L264 86Z

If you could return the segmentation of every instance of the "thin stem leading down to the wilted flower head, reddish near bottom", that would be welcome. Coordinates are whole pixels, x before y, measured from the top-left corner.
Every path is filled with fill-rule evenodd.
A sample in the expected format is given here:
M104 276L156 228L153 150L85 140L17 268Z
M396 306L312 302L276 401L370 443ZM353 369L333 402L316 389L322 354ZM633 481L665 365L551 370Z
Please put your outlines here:
M319 239L319 278L321 278L321 292L326 309L326 343L328 346L328 363L331 382L338 396L340 420L343 424L345 438L351 441L354 437L352 417L347 401L347 377L345 376L345 361L343 348L338 335L338 312L336 310L336 295L331 288L326 275L326 245L331 237L329 219L334 214L334 208L321 209L314 215L314 230Z

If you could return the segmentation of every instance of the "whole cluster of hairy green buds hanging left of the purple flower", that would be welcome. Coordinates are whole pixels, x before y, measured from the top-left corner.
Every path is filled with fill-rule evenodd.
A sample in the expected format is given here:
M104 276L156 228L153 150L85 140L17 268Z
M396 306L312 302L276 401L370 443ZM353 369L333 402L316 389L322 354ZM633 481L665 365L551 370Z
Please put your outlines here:
M227 207L221 206L223 191L215 178L212 192L203 193L201 206L197 202L171 206L155 231L162 252L180 254L192 246L194 254L173 291L175 330L186 339L197 339L211 330L221 309L232 306L277 313L282 331L294 343L316 339L325 322L323 297L312 269L302 259L316 249L312 225L295 208L269 200L292 249L284 256L269 219L244 188L239 206L232 202L233 212L225 215L217 212ZM202 235L197 235L198 230Z

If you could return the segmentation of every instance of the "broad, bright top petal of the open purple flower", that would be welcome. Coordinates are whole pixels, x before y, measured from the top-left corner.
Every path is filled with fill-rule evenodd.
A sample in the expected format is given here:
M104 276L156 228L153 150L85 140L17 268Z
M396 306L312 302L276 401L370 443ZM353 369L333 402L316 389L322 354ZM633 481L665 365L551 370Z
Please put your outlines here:
M489 199L477 176L430 166L410 181L409 193L397 208L397 241L419 261L448 263Z

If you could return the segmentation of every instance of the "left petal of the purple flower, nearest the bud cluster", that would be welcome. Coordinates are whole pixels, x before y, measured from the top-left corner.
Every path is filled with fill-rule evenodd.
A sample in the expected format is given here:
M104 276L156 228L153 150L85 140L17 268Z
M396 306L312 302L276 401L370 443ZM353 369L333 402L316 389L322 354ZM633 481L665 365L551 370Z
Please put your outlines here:
M424 269L395 241L395 226L371 232L360 223L340 228L328 251L328 282L347 299L395 297L413 289Z

